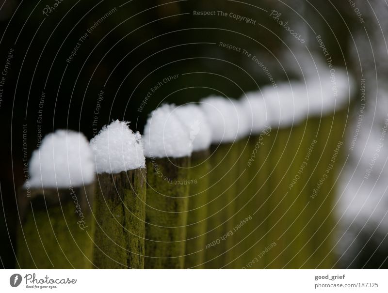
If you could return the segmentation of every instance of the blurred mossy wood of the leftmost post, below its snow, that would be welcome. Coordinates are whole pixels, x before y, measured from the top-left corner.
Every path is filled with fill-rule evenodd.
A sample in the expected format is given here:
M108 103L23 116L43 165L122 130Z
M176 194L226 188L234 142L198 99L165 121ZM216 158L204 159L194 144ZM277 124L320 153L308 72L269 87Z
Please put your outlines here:
M32 188L18 195L20 269L93 268L94 185Z

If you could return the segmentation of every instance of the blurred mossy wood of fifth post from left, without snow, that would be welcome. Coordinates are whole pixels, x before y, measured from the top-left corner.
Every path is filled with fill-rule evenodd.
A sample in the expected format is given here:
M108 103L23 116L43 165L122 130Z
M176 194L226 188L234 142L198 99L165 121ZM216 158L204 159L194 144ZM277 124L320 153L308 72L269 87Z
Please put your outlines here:
M238 145L225 143L210 147L210 187L208 233L206 237L207 269L223 268L232 257L234 227L231 219L235 212L237 190Z

